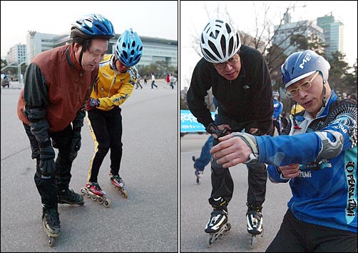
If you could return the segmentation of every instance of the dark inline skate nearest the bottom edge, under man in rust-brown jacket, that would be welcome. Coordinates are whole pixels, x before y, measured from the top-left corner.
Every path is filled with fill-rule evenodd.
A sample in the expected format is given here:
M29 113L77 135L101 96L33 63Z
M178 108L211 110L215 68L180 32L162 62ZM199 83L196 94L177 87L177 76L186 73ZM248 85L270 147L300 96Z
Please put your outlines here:
M61 234L60 218L57 209L42 209L42 224L48 237L48 245L53 247L55 238Z

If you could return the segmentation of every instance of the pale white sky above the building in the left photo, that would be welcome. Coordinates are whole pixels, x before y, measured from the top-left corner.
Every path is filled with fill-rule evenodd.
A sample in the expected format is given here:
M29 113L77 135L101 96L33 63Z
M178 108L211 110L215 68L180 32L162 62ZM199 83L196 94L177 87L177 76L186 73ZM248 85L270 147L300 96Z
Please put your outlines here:
M139 36L178 40L178 1L1 1L1 56L26 44L28 31L69 34L86 14L102 14L116 34L133 28Z

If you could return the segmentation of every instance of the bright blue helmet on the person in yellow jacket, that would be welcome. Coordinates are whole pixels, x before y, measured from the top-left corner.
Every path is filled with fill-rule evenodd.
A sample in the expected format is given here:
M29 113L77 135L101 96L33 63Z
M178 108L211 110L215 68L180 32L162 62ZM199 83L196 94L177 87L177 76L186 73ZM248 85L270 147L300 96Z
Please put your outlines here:
M116 44L116 56L119 61L126 66L133 66L138 64L142 54L143 44L138 34L132 29L124 31Z

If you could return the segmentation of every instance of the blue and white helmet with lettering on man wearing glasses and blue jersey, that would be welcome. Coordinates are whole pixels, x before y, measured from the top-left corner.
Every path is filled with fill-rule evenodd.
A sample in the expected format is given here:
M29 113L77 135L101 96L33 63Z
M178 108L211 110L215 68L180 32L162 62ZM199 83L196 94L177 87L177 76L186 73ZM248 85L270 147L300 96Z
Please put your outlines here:
M328 79L329 62L312 50L299 51L287 57L281 66L282 81L285 89L296 81L310 76L315 71L322 75L323 83Z

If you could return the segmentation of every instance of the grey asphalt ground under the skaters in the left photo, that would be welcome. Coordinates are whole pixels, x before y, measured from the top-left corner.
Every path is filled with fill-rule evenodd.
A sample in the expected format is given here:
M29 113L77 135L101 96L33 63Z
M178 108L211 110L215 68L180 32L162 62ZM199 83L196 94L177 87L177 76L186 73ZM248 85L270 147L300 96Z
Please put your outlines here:
M61 235L48 247L35 161L16 115L19 89L1 89L1 252L178 252L178 91L134 89L123 104L121 177L128 199L111 185L109 154L98 182L111 199L105 208L61 204ZM86 121L70 188L79 192L94 144Z

